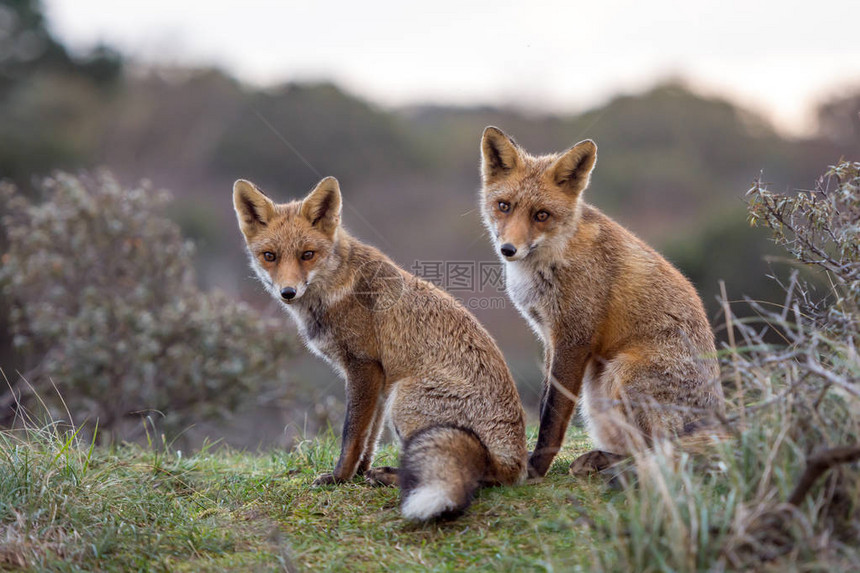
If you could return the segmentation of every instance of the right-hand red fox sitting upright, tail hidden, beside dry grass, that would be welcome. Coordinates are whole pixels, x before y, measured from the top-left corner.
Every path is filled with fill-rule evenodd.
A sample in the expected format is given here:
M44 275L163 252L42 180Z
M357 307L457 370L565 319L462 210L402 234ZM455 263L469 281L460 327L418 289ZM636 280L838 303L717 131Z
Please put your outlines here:
M595 143L534 157L487 127L481 151L483 220L508 295L545 350L529 473L546 474L577 402L596 449L572 473L603 470L722 413L714 336L696 290L582 200Z

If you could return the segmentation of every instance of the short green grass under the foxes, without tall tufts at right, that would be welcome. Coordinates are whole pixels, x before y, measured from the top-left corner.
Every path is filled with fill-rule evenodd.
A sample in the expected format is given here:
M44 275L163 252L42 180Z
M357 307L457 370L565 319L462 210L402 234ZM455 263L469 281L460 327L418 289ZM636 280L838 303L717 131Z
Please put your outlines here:
M33 571L571 570L618 494L575 480L573 430L544 482L481 491L445 523L400 517L399 493L312 488L332 435L292 451L81 447L57 426L0 433L0 565ZM378 462L395 464L382 448Z

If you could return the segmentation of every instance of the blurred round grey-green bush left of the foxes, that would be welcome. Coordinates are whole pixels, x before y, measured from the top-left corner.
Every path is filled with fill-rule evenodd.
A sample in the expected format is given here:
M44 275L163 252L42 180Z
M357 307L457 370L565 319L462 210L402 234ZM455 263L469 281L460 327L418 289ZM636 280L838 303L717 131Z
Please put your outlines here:
M35 394L56 396L56 383L76 422L115 430L149 410L187 425L284 387L288 329L196 286L193 249L162 214L166 192L107 173L58 173L40 191L35 203L2 187L0 287Z

